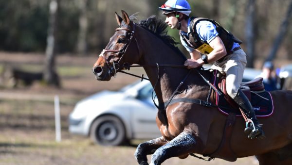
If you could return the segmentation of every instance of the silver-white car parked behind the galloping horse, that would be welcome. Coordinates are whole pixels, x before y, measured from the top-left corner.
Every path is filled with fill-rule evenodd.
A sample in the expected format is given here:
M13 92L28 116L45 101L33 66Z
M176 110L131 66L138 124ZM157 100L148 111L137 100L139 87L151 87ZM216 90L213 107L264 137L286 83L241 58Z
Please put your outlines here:
M260 70L246 68L243 81ZM120 91L102 91L79 101L69 115L69 132L90 136L101 145L121 145L131 139L161 136L155 118L149 81L135 82Z

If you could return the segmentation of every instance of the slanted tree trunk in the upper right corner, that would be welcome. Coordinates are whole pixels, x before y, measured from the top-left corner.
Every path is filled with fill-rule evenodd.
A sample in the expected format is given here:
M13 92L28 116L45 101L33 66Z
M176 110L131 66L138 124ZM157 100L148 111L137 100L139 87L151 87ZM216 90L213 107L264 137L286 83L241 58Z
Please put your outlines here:
M280 47L280 45L285 37L285 34L288 31L291 17L292 17L292 0L290 2L289 7L288 7L287 14L284 17L282 24L280 26L279 33L274 40L274 44L273 44L274 46L272 47L271 52L270 52L268 58L266 59L266 61L272 61L275 58L277 50L279 49L279 47Z

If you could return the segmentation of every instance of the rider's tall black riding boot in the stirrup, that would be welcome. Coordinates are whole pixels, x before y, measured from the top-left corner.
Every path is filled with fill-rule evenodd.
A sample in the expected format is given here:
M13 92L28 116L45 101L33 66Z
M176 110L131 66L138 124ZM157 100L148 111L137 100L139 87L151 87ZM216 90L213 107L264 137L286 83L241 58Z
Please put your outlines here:
M256 130L254 130L254 127L252 125L249 125L249 127L245 128L244 130L244 132L248 134L248 138L264 139L265 134L262 130L261 124L259 124L258 120L256 119L256 114L253 109L253 106L249 99L244 95L244 93L240 89L238 89L234 101L239 105L244 114L254 122Z

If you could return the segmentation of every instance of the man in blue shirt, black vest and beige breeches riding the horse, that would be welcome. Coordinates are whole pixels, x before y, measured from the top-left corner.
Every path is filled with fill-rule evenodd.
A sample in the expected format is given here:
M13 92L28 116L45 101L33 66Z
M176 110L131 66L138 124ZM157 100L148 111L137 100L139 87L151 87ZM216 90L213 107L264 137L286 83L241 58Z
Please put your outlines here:
M244 132L249 138L264 138L253 106L239 88L246 66L246 54L239 46L241 41L214 20L189 17L191 7L186 0L167 0L159 9L166 16L165 23L180 30L181 42L190 52L191 59L184 65L190 69L215 62L211 68L226 74L228 95L254 123L256 130L249 125Z

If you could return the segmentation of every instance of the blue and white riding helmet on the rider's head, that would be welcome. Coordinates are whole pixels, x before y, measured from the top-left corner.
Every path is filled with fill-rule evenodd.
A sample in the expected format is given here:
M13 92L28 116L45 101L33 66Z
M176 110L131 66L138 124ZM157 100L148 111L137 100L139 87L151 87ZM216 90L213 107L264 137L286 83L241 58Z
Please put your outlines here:
M164 15L180 12L189 16L191 13L191 6L186 0L167 0L159 9L164 11Z

